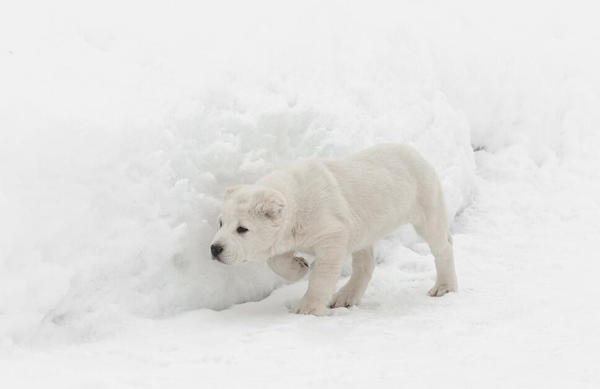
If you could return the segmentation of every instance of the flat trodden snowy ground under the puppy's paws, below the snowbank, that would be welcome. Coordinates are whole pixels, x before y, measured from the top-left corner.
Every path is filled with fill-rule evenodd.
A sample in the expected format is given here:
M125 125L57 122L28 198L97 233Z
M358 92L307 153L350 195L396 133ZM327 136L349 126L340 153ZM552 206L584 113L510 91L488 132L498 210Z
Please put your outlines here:
M110 339L4 344L11 387L597 387L600 176L477 153L455 224L461 291L430 298L433 259L394 247L359 308L288 314L306 282L260 302L138 320ZM575 198L574 198L575 197ZM340 284L343 282L340 281Z

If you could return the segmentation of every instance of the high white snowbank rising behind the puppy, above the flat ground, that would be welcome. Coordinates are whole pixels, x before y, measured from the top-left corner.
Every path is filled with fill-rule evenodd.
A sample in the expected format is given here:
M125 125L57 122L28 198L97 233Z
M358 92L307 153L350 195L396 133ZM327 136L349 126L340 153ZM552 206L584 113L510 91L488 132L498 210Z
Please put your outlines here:
M0 16L0 339L265 297L265 266L207 246L227 186L297 157L411 143L453 218L473 146L542 165L597 141L598 30L558 7L29 7Z

